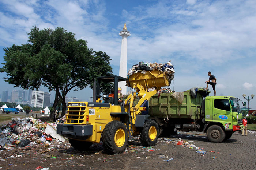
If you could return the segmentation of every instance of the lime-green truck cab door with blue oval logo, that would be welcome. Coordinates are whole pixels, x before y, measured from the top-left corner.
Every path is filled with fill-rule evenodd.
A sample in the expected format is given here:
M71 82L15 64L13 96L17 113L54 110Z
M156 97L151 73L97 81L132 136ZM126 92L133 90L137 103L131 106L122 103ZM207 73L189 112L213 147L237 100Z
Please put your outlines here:
M212 109L213 121L223 124L225 129L233 129L232 111L229 99L214 99Z

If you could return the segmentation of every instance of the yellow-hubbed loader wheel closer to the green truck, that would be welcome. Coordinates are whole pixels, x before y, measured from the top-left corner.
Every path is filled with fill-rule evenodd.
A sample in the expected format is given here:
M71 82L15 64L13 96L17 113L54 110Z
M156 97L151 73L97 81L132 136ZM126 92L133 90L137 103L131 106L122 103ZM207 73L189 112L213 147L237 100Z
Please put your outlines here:
M147 120L144 127L139 134L140 142L143 146L154 146L157 143L159 136L159 129L157 122L154 120Z

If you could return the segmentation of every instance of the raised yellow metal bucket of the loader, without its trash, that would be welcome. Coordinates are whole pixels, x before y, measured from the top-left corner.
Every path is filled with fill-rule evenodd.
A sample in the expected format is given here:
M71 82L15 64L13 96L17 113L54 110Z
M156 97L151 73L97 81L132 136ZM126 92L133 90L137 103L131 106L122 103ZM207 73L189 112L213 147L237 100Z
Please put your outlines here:
M146 74L141 72L129 76L128 87L133 87L132 84L136 83L146 88L155 88L159 90L161 87L170 86L170 80L167 74L159 70L147 71Z

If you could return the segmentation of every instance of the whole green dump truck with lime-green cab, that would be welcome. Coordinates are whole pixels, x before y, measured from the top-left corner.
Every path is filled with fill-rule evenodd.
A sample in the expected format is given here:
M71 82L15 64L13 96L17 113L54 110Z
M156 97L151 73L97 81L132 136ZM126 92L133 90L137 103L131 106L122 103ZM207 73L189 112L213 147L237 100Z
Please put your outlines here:
M238 99L231 96L206 96L203 88L184 92L161 93L148 103L149 119L155 119L160 133L199 131L207 133L211 142L229 139L242 130L242 114ZM206 96L206 98L203 98Z

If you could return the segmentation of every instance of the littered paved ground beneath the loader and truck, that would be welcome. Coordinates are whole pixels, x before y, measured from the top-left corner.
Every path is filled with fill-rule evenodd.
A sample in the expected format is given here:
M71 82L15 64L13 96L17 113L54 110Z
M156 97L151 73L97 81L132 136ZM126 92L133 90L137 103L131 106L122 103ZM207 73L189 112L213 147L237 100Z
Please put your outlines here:
M197 133L203 134L203 133ZM207 151L176 145L179 138L193 141ZM170 141L172 140L172 141ZM102 144L93 144L89 151L78 151L68 142L44 148L44 144L30 148L14 148L0 153L2 169L256 169L256 133L248 136L233 134L223 143L211 143L206 135L180 133L170 138L160 137L156 146L143 147L138 138L129 141L127 151L109 155ZM212 152L209 152L212 151ZM219 152L219 153L218 153ZM202 156L203 155L203 156ZM168 156L169 158L159 158ZM173 158L172 161L164 161Z

